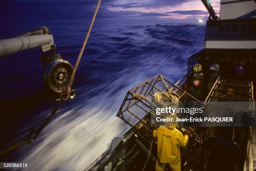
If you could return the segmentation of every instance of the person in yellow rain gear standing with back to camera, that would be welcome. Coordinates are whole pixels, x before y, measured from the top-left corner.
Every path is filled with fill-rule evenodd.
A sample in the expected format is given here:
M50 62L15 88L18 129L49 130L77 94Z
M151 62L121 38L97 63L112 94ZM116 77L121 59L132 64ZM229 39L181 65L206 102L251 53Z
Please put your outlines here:
M177 116L169 115L166 117L174 118ZM164 126L160 126L153 131L153 137L157 138L157 160L156 171L164 171L169 164L172 171L181 171L180 150L182 146L186 146L189 139L189 131L185 135L176 129L178 122L165 122Z

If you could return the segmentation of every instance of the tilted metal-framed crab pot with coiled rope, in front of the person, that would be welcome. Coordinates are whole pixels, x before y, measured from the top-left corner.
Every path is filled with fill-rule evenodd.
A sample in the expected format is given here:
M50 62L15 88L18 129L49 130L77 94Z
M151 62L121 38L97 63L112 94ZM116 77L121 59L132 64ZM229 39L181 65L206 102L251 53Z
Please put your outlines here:
M117 116L133 127L140 140L150 145L152 140L152 131L155 127L151 126L151 114L157 104L154 102L154 94L159 92L173 92L177 95L179 102L200 103L195 97L192 97L186 91L166 80L161 75L157 75L142 83L141 85L129 90L121 104ZM182 147L182 167L185 168L200 166L200 153L195 151L200 149L202 143L203 127L183 127L178 126L177 129L184 132L189 130L192 139L188 141L187 146ZM153 148L154 149L154 148ZM154 151L154 150L153 150ZM155 151L156 152L156 151ZM194 166L195 165L195 166Z

